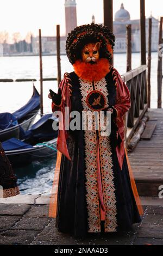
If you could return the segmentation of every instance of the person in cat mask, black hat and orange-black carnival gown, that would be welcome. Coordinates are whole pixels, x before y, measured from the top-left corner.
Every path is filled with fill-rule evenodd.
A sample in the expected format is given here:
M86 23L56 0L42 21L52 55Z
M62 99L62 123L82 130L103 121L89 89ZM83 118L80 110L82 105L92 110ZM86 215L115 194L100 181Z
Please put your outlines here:
M66 41L74 71L65 73L58 93L50 90L48 95L53 113L60 111L63 117L49 216L56 217L59 231L75 236L130 230L143 214L124 148L124 115L131 101L111 65L114 42L106 26L74 28ZM109 135L104 135L102 125L95 129L94 115L91 130L66 129L65 107L81 116L102 112L104 120L109 113Z

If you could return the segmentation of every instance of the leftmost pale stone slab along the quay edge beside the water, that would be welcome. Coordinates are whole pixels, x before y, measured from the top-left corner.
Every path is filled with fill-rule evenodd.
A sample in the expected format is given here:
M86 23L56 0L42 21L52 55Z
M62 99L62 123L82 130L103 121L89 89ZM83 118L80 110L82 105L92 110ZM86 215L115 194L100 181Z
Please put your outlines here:
M18 194L15 197L0 198L0 204L34 204L35 199L40 195L24 195Z

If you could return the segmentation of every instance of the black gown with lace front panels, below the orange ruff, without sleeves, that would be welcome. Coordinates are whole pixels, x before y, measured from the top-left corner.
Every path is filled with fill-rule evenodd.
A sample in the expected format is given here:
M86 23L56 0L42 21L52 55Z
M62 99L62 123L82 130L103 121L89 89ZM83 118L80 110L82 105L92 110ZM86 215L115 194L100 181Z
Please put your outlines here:
M116 87L109 72L101 81L87 82L70 73L71 111L92 111L87 95L100 92L105 107L116 106ZM94 95L96 98L96 95ZM98 95L97 95L98 96ZM99 105L103 103L99 102ZM59 108L52 103L53 112ZM129 230L141 222L126 155L122 168L116 148L122 142L115 118L111 133L101 136L96 130L70 130L66 139L71 161L61 156L58 183L56 227L63 233L85 236L87 233Z

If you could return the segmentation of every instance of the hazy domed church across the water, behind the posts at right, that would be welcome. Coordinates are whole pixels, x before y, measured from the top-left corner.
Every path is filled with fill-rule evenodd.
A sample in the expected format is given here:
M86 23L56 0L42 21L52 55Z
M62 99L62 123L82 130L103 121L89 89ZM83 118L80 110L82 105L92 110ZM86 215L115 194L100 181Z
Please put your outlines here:
M152 16L151 16L152 17ZM131 24L132 51L140 52L140 20L130 20L129 12L124 9L123 3L120 10L115 13L114 34L115 52L126 52L126 25ZM152 17L152 51L158 51L159 21ZM146 48L148 47L148 19L146 19Z

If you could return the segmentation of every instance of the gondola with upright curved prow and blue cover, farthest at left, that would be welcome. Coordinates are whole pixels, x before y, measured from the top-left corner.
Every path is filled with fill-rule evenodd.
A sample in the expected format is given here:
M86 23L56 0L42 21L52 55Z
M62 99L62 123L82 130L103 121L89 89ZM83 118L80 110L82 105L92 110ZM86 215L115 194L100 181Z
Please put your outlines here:
M31 99L14 113L0 114L0 141L20 137L20 127L27 131L40 109L40 94L33 87Z

